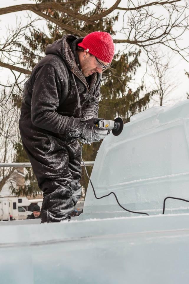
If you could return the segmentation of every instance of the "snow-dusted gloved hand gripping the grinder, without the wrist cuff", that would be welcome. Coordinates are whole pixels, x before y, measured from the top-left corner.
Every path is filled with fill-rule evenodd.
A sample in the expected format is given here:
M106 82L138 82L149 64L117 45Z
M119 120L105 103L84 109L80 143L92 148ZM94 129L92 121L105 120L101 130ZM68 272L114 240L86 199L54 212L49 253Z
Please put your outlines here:
M83 129L80 134L80 141L82 143L91 144L92 142L104 139L110 133L109 130L104 130L96 126L100 120L102 118L91 118L83 122Z

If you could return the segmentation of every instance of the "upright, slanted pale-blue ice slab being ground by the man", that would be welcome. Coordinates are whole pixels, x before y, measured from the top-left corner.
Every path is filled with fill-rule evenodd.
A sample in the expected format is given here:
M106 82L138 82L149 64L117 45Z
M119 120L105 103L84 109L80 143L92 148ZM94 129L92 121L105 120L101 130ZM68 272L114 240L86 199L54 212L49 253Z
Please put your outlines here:
M91 174L97 197L114 191L129 210L160 214L167 196L189 200L189 100L131 117L119 136L103 140ZM189 212L168 199L165 214ZM113 195L95 199L89 183L80 218L130 216Z

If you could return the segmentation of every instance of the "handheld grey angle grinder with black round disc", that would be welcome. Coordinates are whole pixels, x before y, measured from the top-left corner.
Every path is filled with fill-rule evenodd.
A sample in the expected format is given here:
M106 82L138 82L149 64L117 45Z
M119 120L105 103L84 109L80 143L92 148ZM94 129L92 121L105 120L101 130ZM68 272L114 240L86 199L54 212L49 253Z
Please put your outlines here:
M115 120L99 120L96 126L101 129L112 130L112 134L118 136L123 130L124 123L121 117L117 117Z

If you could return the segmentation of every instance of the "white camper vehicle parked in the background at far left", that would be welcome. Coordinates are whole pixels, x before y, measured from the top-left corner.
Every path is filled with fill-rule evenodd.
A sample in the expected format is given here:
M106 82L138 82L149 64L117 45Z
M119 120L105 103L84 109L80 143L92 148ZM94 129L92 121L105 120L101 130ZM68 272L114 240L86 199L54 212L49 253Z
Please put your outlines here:
M0 198L0 221L25 220L32 212L23 206L29 206L31 202L26 197L2 197Z

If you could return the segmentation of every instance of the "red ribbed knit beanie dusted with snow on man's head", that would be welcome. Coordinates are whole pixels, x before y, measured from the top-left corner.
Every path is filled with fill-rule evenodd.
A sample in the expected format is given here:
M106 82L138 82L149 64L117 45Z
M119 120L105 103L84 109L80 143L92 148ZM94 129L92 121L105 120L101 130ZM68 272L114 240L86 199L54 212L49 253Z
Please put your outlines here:
M111 35L106 32L89 33L78 46L107 63L114 57L114 42Z

